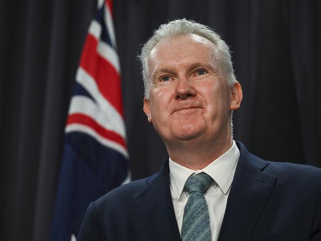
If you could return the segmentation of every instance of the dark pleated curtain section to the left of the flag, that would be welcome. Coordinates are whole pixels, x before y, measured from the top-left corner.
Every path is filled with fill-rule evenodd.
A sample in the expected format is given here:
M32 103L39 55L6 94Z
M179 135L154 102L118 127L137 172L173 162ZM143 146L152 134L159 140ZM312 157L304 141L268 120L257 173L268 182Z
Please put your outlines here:
M0 240L47 240L70 95L97 3L0 4Z

